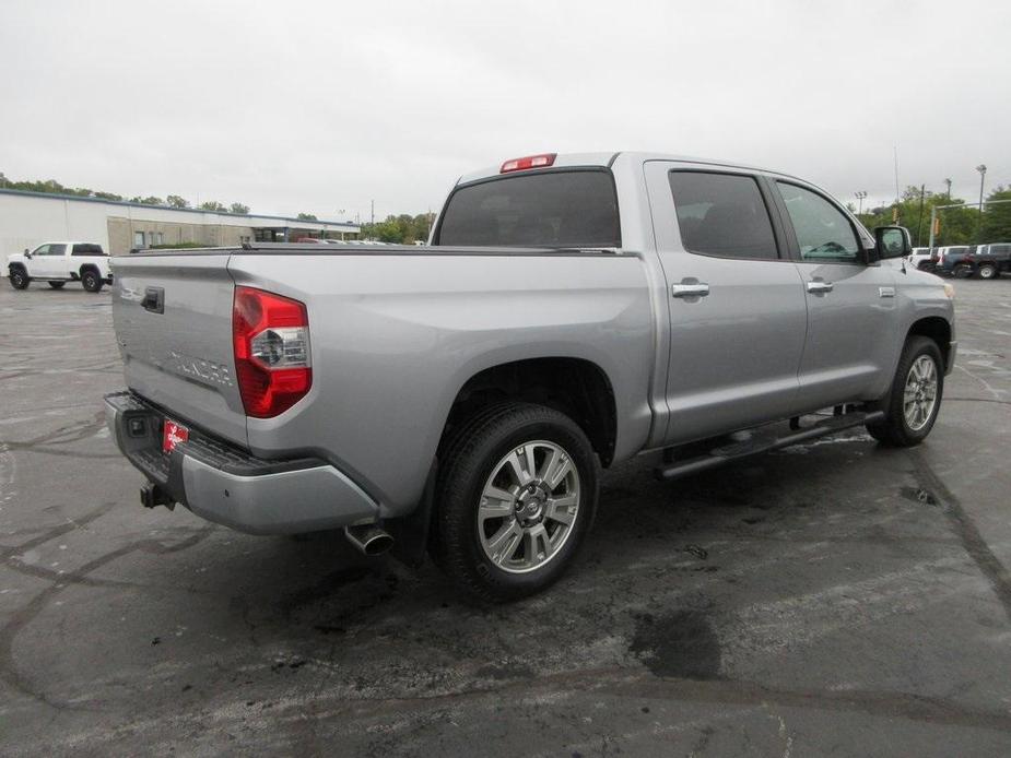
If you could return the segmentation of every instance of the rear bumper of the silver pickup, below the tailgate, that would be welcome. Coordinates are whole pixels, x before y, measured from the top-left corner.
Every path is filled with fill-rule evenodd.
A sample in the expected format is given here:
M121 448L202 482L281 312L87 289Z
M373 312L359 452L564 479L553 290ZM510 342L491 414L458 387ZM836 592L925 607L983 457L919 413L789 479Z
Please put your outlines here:
M106 395L105 411L116 445L164 500L208 521L251 534L296 534L378 517L378 506L326 461L267 461L197 430L166 454L165 416L155 405L117 392Z

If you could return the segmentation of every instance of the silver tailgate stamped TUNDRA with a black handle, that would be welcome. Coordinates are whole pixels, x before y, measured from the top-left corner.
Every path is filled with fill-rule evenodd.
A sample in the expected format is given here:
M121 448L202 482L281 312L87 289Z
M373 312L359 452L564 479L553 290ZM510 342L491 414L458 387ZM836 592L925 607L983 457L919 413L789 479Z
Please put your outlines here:
M228 258L224 251L117 258L113 322L131 390L175 421L245 446Z

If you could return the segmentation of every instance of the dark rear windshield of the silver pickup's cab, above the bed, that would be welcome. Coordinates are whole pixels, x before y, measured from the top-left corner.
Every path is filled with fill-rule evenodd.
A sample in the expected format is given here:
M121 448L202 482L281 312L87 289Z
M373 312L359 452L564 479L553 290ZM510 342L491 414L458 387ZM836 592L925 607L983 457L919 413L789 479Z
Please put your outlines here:
M607 170L543 171L456 190L435 245L621 247L618 198Z

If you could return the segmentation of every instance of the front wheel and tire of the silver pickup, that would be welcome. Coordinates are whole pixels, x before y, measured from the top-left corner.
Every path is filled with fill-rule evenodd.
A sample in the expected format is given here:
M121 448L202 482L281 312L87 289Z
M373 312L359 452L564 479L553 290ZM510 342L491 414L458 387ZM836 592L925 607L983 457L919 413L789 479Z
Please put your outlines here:
M944 370L938 344L925 336L906 341L892 388L882 401L884 419L868 424L883 445L910 448L922 442L937 421L944 393Z

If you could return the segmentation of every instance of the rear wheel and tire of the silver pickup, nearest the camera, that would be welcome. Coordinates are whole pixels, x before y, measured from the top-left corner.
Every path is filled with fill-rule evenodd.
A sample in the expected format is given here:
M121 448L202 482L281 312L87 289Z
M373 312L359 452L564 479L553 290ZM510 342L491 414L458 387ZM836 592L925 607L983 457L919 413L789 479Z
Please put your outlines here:
M597 509L583 429L553 408L508 403L465 425L443 460L435 536L449 577L496 602L556 581Z

